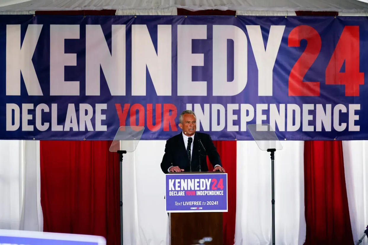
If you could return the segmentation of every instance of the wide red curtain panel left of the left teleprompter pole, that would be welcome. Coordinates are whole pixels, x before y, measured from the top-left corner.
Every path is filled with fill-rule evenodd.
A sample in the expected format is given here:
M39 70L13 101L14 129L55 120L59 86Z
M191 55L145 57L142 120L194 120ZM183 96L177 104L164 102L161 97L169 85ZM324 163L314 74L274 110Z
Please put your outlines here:
M43 230L120 243L119 162L108 141L40 141Z

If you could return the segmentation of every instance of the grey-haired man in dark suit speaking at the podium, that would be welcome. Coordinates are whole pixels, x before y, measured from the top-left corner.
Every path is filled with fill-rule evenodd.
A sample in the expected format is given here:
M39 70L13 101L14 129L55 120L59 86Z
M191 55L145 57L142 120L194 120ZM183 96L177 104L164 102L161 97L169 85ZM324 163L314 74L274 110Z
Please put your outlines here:
M185 110L179 116L180 134L166 141L161 169L168 172L207 172L206 155L213 171L225 172L220 156L209 134L195 132L196 117L193 111Z

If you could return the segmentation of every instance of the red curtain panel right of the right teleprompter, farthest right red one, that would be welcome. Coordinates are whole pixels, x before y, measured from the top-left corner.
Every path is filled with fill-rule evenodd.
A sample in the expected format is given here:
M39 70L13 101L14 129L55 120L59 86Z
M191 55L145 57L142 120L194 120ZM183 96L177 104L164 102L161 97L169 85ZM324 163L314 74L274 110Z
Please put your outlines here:
M354 244L341 141L305 141L305 245Z

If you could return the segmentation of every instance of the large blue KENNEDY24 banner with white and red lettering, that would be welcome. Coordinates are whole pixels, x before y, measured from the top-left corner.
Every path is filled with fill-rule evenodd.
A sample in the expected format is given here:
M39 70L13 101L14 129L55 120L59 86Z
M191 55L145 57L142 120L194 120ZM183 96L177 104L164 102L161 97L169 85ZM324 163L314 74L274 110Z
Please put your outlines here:
M368 139L366 17L0 16L0 138Z

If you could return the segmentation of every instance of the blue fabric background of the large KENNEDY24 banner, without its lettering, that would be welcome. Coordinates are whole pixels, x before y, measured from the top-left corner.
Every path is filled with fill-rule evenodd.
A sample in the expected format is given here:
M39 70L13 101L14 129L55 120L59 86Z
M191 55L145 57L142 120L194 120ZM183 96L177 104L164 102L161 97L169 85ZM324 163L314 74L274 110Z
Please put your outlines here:
M21 40L24 39L27 26L29 24L42 24L43 28L33 54L33 65L38 76L43 96L28 96L24 81L21 78L21 96L6 95L6 26L11 24L21 25ZM80 81L79 96L50 96L50 25L80 25L80 38L65 40L65 53L77 54L76 66L65 66L66 81ZM107 87L103 72L101 72L101 95L85 95L85 25L101 25L105 34L107 45L111 51L111 26L126 25L126 95L111 96ZM172 63L171 63L171 91L172 96L157 96L153 87L149 72L147 71L146 96L131 95L131 25L147 25L154 47L157 50L157 25L172 25ZM193 40L192 53L204 54L204 66L195 66L192 68L193 81L207 81L207 96L177 96L177 26L178 25L207 25L207 39ZM245 89L236 96L212 96L212 26L213 25L234 25L242 29L248 38L248 80ZM281 45L277 53L275 66L273 68L273 96L258 96L258 69L252 51L251 43L247 33L246 25L260 25L262 30L263 42L266 46L271 25L285 25ZM304 76L304 81L320 82L319 96L289 96L288 79L291 69L297 62L300 55L305 50L307 42L302 40L300 47L289 47L288 36L291 30L299 25L308 25L314 28L321 36L322 46L315 62L309 68ZM359 26L359 44L360 44L360 62L359 70L364 73L364 85L359 86L360 96L345 96L344 85L325 84L326 66L335 50L336 44L345 26ZM2 15L0 16L0 138L1 139L33 139L36 140L112 140L116 130L119 127L119 119L115 104L141 104L145 108L146 126L147 114L146 104L153 104L153 122L155 122L155 104L173 104L177 109L175 119L178 124L178 115L186 109L186 104L222 104L225 108L227 104L251 104L254 109L256 104L297 104L302 109L303 104L343 104L348 108L349 104L360 104L360 110L355 111L359 119L355 125L360 126L359 131L348 131L348 127L343 131L303 131L302 126L297 131L279 131L276 128L276 134L280 139L287 140L360 140L368 139L368 99L367 99L367 43L368 39L368 19L366 17L243 17L243 16L32 16L32 15ZM21 41L22 42L22 41ZM233 60L231 51L231 42L228 43L228 60ZM232 63L228 62L228 71L232 69ZM342 68L343 72L344 68ZM228 80L231 80L231 72L228 73ZM50 122L51 125L51 104L57 104L58 123L63 124L68 108L68 103L74 103L78 118L78 104L87 103L94 105L96 103L106 103L107 109L103 111L106 114L106 120L102 120L103 125L107 125L107 131L51 131L50 127L46 131L39 131L34 126L33 131L22 131L22 119L20 128L15 131L6 130L6 104L14 103L21 106L22 103L32 103L34 107L40 103L49 106L50 112L43 112L42 120ZM315 109L316 107L314 107ZM162 110L163 111L163 110ZM314 114L313 114L314 113ZM22 114L22 113L20 113ZM28 121L29 125L35 125L35 110L30 110L32 119ZM240 131L240 105L239 110L234 112L238 117L233 125L238 125L238 131L227 130L227 120L225 119L224 129L221 131L207 131L213 140L252 140L248 131ZM268 110L263 114L269 115ZM314 115L315 111L310 111ZM348 123L348 113L340 114L340 123ZM286 113L285 113L286 115ZM20 115L22 116L22 115ZM256 112L255 112L256 116ZM302 113L301 113L302 117ZM94 115L92 125L94 125ZM268 123L269 117L262 123ZM302 119L301 119L302 121ZM137 120L138 122L138 120ZM251 122L255 123L255 117ZM286 124L286 122L285 122ZM332 123L333 124L333 123ZM129 114L125 125L130 125ZM311 120L309 125L315 128L315 120ZM176 129L176 130L175 130ZM286 129L287 130L287 129ZM197 125L197 131L204 131L203 127ZM205 131L206 132L206 131ZM163 123L157 131L145 129L142 139L144 140L164 140L175 134L180 133L178 126L170 125L169 131L163 130Z

